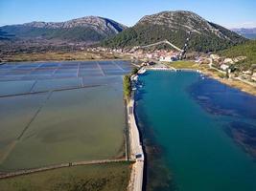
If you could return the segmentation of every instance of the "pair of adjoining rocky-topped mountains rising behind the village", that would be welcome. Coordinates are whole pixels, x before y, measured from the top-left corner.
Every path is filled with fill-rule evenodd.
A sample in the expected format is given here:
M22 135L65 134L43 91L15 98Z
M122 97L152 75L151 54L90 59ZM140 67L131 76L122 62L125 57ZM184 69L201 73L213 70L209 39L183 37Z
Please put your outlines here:
M32 42L35 42L36 47L43 43L46 47L49 43L55 46L53 42L82 42L82 46L101 42L106 47L129 48L165 39L182 48L190 32L189 49L198 52L219 51L246 41L242 35L191 11L162 11L147 15L130 28L99 16L86 16L66 22L10 25L0 28L0 40L12 39L14 44L18 44L15 47L22 51L24 43ZM3 47L10 48L10 43Z

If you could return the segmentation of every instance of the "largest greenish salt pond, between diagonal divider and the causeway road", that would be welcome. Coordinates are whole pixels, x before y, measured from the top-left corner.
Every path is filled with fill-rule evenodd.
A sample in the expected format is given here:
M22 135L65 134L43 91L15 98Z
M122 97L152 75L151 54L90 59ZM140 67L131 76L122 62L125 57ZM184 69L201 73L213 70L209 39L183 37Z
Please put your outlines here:
M0 169L122 155L126 125L122 95L120 85L54 92Z

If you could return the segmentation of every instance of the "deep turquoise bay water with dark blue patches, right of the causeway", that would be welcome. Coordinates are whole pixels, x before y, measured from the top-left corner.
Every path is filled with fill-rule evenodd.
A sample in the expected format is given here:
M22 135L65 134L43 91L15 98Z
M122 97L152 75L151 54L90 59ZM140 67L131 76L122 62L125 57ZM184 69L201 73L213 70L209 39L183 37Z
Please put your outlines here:
M147 190L256 190L256 162L248 152L256 145L255 96L189 72L147 72L140 83L136 117L147 152ZM240 123L252 129L239 131L234 124ZM241 137L230 132L249 132L254 142L239 144Z

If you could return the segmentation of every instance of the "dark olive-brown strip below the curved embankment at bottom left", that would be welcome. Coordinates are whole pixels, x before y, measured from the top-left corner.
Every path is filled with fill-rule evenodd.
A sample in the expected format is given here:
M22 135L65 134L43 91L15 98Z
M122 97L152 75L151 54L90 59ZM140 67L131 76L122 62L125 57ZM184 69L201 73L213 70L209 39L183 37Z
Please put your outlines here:
M127 190L128 162L85 165L0 180L1 191L122 191Z

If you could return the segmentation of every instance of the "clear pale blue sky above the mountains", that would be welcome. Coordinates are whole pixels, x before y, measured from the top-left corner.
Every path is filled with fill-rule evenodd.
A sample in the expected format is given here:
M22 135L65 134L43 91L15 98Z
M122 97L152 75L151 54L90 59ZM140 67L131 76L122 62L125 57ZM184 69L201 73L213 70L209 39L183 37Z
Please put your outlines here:
M177 10L228 29L256 27L256 0L0 0L0 26L96 15L130 27L144 15Z

